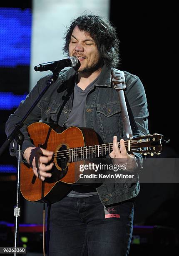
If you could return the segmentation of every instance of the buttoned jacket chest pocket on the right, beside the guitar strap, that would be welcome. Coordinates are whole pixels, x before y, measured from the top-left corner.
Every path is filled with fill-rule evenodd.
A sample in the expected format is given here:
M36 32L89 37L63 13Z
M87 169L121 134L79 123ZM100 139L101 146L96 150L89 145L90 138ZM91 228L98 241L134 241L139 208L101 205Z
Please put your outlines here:
M97 120L100 132L116 135L119 132L121 108L117 102L97 106Z

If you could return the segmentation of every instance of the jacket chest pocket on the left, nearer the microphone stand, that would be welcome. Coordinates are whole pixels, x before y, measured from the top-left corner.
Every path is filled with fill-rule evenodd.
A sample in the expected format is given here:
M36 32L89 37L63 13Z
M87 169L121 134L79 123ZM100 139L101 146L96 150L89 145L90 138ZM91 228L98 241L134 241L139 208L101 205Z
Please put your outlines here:
M47 119L51 118L53 121L57 121L57 110L60 107L58 102L43 98L37 106L42 110L42 113L47 115Z

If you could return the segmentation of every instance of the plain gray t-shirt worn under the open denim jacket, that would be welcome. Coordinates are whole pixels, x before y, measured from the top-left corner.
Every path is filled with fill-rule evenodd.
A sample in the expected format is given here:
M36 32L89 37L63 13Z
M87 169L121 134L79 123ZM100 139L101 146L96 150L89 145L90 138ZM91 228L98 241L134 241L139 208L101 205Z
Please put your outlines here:
M70 126L86 127L85 121L85 101L87 94L91 90L98 77L87 86L85 90L82 90L75 82L74 96L73 96L73 107L68 116L65 126L68 128ZM95 187L84 186L84 185L73 185L72 191L67 195L68 197L90 197L92 195L97 195Z

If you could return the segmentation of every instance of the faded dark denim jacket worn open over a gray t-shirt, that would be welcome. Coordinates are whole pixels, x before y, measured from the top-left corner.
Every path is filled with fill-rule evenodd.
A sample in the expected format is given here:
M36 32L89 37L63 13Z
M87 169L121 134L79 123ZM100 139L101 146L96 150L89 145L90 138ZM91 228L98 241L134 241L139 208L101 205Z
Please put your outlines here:
M135 136L147 135L147 100L144 87L139 77L125 72L126 80L126 97L134 116L137 125ZM45 123L57 123L60 126L65 125L65 121L72 110L73 102L73 87L75 81L76 71L73 68L62 70L55 83L45 92L40 102L32 110L32 113L25 120L24 126L21 129L25 136L22 145L22 152L30 146L34 146L30 141L27 133L27 126L37 121ZM26 99L23 100L14 114L10 115L6 123L6 134L10 135L14 129L14 124L22 119L27 113L32 103L37 96L42 92L46 86L46 80L52 74L42 77L32 89ZM111 84L111 69L106 65L102 68L99 78L94 83L90 92L87 95L85 102L85 122L86 127L94 129L102 138L103 143L111 143L113 136L124 138L124 131L122 125L121 108L119 104L119 97L117 91ZM10 149L12 147L12 143ZM10 154L17 156L17 146L15 145L15 152ZM135 153L137 163L140 168L142 166L142 156ZM117 202L136 197L140 191L139 182L129 183L104 183L97 188L99 198L104 205L111 205Z

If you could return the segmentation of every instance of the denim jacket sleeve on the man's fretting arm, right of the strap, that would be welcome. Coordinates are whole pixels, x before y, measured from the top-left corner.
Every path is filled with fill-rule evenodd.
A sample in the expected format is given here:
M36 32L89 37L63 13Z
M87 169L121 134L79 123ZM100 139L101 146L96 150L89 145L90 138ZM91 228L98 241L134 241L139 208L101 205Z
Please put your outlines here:
M149 134L147 121L149 113L147 109L147 99L144 86L139 77L128 75L126 78L126 88L126 97L129 102L135 123L134 128L131 122L133 138L147 135ZM137 158L137 162L140 168L142 166L142 155L139 153L134 153L134 155Z

